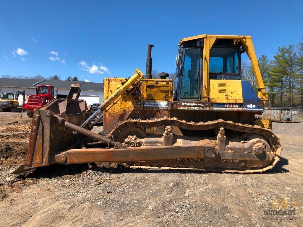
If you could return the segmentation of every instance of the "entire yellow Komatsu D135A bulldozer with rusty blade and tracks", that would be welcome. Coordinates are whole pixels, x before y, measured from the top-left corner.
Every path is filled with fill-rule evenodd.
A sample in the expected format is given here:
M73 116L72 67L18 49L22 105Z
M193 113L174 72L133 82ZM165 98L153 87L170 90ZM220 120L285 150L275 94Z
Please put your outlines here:
M174 89L167 73L151 78L151 47L146 76L136 69L128 78L105 78L105 101L94 113L77 102L77 84L66 99L36 108L25 163L14 173L53 163L118 162L222 173L261 173L275 166L279 139L266 120L255 120L268 97L251 36L181 39ZM257 92L241 80L244 53ZM92 132L101 118L103 130ZM98 142L107 145L100 148Z

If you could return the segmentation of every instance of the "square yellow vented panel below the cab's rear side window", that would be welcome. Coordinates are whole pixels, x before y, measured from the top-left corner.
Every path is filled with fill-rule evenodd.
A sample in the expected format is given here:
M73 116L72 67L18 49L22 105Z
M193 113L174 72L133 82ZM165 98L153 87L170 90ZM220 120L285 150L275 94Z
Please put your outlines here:
M212 103L242 103L241 81L210 80L210 101Z

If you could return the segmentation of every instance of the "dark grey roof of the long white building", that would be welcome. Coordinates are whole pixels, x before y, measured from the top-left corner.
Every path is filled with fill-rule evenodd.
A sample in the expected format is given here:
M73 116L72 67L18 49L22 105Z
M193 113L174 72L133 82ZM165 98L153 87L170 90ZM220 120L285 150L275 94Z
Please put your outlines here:
M38 83L40 80L30 79L6 79L0 78L0 87L23 87L23 88L35 88L33 84ZM82 84L81 90L96 90L102 91L103 83L92 83L85 81L51 81L46 80L38 85L52 85L61 89L69 89L72 83Z

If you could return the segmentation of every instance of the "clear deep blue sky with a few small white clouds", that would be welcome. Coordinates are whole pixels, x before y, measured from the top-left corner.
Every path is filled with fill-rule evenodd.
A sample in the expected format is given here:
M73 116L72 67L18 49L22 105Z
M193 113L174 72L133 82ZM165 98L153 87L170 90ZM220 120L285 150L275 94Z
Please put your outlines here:
M200 34L252 35L256 54L303 38L303 1L2 1L0 75L102 82L175 71L178 42Z

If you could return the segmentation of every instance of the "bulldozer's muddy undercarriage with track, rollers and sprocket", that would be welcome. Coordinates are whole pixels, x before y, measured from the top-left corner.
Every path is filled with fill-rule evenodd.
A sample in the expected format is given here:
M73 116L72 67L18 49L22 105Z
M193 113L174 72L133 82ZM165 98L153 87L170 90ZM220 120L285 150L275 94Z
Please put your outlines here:
M198 132L208 130L208 134L218 135L185 139L184 136L171 133L172 126ZM165 133L161 137L147 135L143 128L151 127L164 127ZM279 139L271 130L224 120L195 123L177 118L129 119L120 123L111 136L118 142L124 140L123 145L126 147L181 146L180 149L186 149L186 146L205 146L204 158L128 163L133 168L260 173L275 166L281 154Z

